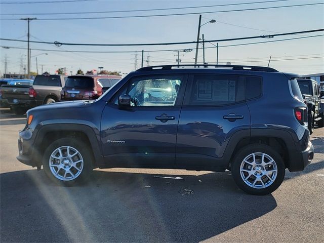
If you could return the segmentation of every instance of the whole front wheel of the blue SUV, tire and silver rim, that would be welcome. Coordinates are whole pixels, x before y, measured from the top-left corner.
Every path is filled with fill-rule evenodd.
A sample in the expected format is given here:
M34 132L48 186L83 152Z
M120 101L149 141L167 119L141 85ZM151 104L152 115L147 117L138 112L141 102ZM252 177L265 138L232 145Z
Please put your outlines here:
M43 156L43 168L47 176L64 186L86 181L92 171L92 164L88 146L72 138L54 141Z

